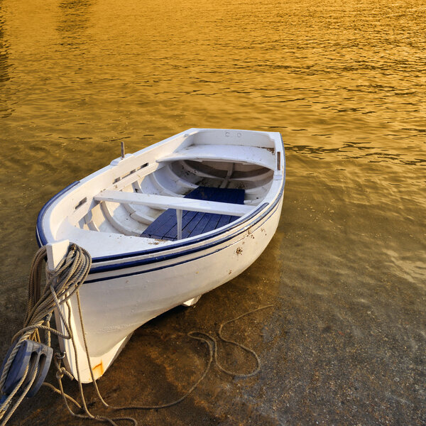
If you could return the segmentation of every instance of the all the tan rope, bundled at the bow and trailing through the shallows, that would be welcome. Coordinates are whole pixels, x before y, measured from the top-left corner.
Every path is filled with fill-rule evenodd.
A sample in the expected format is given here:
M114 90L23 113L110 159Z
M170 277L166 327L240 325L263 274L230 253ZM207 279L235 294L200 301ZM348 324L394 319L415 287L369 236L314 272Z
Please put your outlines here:
M204 369L202 375L198 380L195 382L194 385L178 400L174 400L170 403L164 403L160 405L129 405L124 407L116 407L114 405L109 405L107 402L105 402L104 398L102 398L102 395L99 391L99 388L97 386L97 382L94 379L93 371L92 371L92 365L90 362L90 356L89 351L87 349L87 341L86 336L84 332L84 322L83 322L83 315L82 315L82 309L81 309L81 303L80 303L80 294L79 294L79 288L80 285L84 282L84 280L87 277L87 274L89 273L90 266L92 265L92 258L90 257L89 253L82 249L80 246L77 246L77 244L70 244L70 247L68 249L67 256L65 256L62 261L58 264L57 268L55 268L55 271L50 271L48 269L48 266L46 265L46 283L45 288L43 289L43 293L40 292L40 283L41 283L41 271L42 271L42 263L45 260L46 257L46 249L45 247L42 247L38 250L38 252L35 254L35 257L33 259L33 263L31 266L31 273L30 273L30 279L28 283L28 306L27 306L27 314L26 319L23 324L23 329L21 329L12 339L12 342L17 341L16 346L13 348L13 351L11 351L11 354L9 355L9 358L6 361L6 364L4 366L3 373L1 374L0 378L0 389L3 388L4 383L7 378L7 374L9 373L10 366L13 362L13 359L15 358L19 347L21 347L21 344L25 339L31 339L35 342L41 342L40 340L40 331L43 330L45 332L44 334L44 343L50 346L50 334L55 334L58 337L62 337L62 339L71 339L72 346L75 352L75 364L76 364L76 371L77 371L77 381L79 385L79 391L80 391L80 398L82 400L82 404L78 403L74 398L70 397L70 395L67 395L64 391L63 385L62 385L62 378L63 376L67 376L71 380L74 378L72 374L70 374L65 367L61 364L61 359L63 358L63 354L60 354L59 352L55 353L55 356L53 357L55 361L55 367L56 367L56 378L58 380L58 388L55 388L50 383L43 383L43 385L48 386L48 388L52 389L55 393L58 393L62 396L62 400L65 403L65 407L67 408L67 411L75 416L80 417L82 419L89 419L89 420L97 420L99 422L108 422L112 426L118 426L116 424L117 421L120 420L126 420L131 422L134 426L138 425L138 422L133 417L106 417L103 415L93 415L89 412L89 409L87 408L87 403L84 398L83 393L83 387L82 382L80 380L80 369L79 369L79 363L77 359L77 349L75 345L75 339L72 334L72 329L70 329L70 315L71 315L71 307L70 307L70 297L73 295L77 298L77 306L79 310L79 316L80 316L80 324L82 327L82 337L84 342L84 350L86 352L87 356L87 363L89 364L89 371L92 375L92 384L94 386L94 389L97 393L97 397L101 401L102 405L104 407L112 409L112 410L158 410L160 408L168 408L172 405L176 405L185 398L187 398L188 395L192 393L192 391L197 388L197 386L200 384L200 382L207 376L207 373L209 371L210 366L212 365L212 362L217 365L220 371L223 373L229 374L231 376L241 377L241 378L247 378L254 376L261 368L261 361L256 354L255 351L252 349L249 349L248 347L235 342L230 339L226 339L222 336L222 328L224 325L229 324L230 322L234 322L236 320L239 320L242 317L245 317L246 315L250 315L254 312L257 312L259 310L264 310L268 307L273 307L273 305L266 305L263 307L258 307L255 310L251 310L249 312L245 312L242 315L239 315L238 317L233 318L232 320L226 321L222 323L219 326L218 330L218 336L219 339L221 339L223 342L234 344L235 346L240 347L244 351L251 354L254 359L256 360L256 368L253 369L253 371L249 373L236 373L234 371L229 371L226 368L224 368L218 361L217 356L217 339L210 336L207 333L204 332L197 332L192 331L189 332L187 335L192 338L196 339L200 342L204 342L204 344L207 345L209 349L209 361L207 362L207 366ZM41 294L40 294L41 293ZM62 311L60 310L60 305L65 303L68 307L68 318L65 318L62 315ZM50 319L53 314L53 310L57 309L57 312L60 315L62 324L65 327L65 330L67 334L63 334L59 332L57 329L53 329L50 327ZM18 405L21 403L25 395L28 393L29 389L33 385L33 382L35 380L35 377L37 376L37 368L34 368L34 371L31 373L31 377L28 377L28 385L25 389L23 389L21 395L18 397L18 399L13 403L11 407L11 401L13 400L13 397L16 395L19 388L22 386L22 384L26 381L28 376L28 366L26 368L25 373L23 374L23 377L21 378L21 381L16 384L16 387L14 388L13 392L10 395L7 395L6 397L1 399L0 404L0 420L1 424L0 426L6 425L6 422L9 420L13 412L18 408ZM84 414L76 413L74 412L69 402L75 405L78 410L83 410Z

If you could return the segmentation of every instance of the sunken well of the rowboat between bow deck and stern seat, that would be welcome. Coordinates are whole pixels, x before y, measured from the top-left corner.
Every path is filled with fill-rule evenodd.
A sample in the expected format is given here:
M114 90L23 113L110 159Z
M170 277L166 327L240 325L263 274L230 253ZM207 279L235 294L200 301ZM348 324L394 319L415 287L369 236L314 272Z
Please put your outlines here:
M189 158L164 161L142 178L133 175L136 180L125 176L114 190L94 197L75 226L163 241L189 238L251 212L273 181L273 170L263 165Z

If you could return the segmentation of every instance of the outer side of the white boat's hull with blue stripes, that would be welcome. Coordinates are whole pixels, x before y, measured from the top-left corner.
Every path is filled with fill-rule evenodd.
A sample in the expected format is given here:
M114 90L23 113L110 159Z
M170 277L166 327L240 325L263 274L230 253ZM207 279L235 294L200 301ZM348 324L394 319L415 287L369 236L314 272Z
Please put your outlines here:
M107 370L135 329L219 287L251 266L275 233L282 203L283 190L273 204L261 209L249 222L193 248L187 246L169 258L157 253L151 261L124 257L100 265L94 263L80 288L82 320L94 379ZM70 315L66 305L62 305L62 310L70 317L77 354L69 340L60 339L60 346L66 353L67 369L88 383L92 381L92 374L84 350L76 297L70 300L70 307Z

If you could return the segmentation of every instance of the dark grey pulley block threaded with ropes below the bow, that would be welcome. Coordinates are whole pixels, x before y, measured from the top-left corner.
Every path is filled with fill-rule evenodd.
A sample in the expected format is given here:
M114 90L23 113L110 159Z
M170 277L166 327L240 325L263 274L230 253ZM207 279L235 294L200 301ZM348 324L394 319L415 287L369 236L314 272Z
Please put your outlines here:
M0 376L3 373L6 361L9 359L9 355L15 346L16 343L12 344L9 348L6 358L3 361L3 365L1 366ZM31 381L35 368L38 368L33 385L26 394L27 398L34 396L48 374L52 356L53 349L47 344L34 342L33 340L28 339L23 340L21 347L18 349L18 353L12 361L9 373L1 391L6 395L10 395L13 392L13 389L18 385L19 381L21 381L22 376L25 374L26 367L28 366L26 379L23 381L16 395L22 394L23 390Z

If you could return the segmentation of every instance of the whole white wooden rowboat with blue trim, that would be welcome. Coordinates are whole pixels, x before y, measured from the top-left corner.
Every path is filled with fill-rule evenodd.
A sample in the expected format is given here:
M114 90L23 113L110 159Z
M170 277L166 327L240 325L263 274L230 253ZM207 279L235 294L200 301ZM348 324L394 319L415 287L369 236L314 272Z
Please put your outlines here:
M45 204L38 244L55 251L72 241L92 256L80 298L95 379L136 328L193 305L261 255L278 226L284 184L280 133L189 129L113 160ZM88 383L75 297L70 305L61 309ZM58 315L56 322L63 330ZM76 377L70 340L60 346Z

